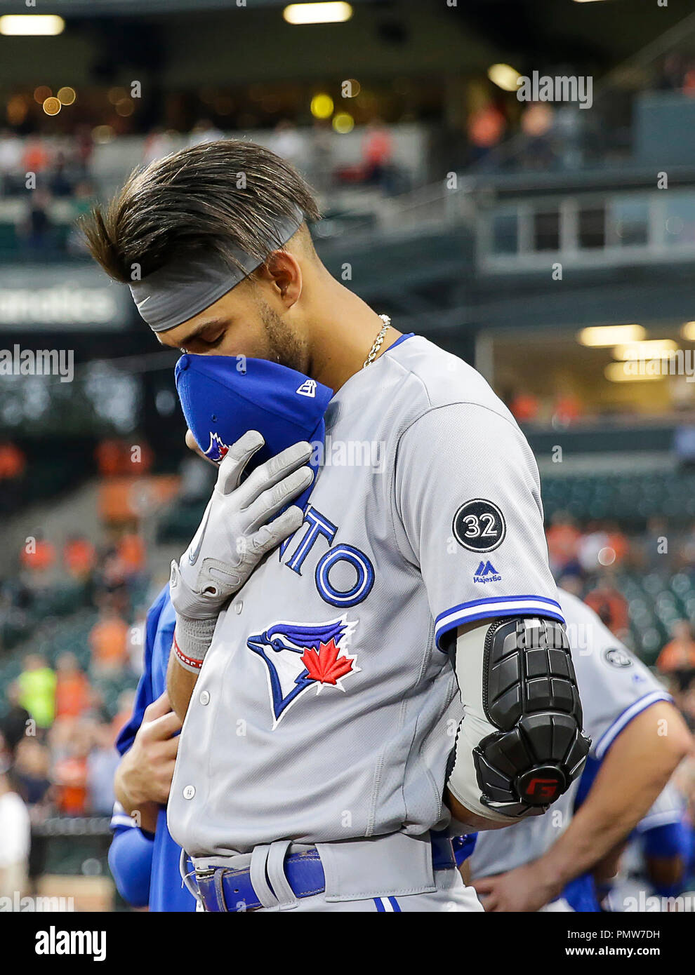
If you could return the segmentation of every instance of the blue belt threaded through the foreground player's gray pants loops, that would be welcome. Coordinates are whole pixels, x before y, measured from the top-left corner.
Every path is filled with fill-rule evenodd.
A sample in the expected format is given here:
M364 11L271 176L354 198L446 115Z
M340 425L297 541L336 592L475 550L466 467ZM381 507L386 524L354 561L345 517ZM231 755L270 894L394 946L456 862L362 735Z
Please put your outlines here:
M456 870L451 839L430 834L433 870ZM315 846L301 853L290 853L284 860L284 873L295 897L312 897L326 889L321 857ZM251 867L211 867L196 871L200 899L206 911L239 913L262 907L251 882ZM270 888L272 889L272 888Z

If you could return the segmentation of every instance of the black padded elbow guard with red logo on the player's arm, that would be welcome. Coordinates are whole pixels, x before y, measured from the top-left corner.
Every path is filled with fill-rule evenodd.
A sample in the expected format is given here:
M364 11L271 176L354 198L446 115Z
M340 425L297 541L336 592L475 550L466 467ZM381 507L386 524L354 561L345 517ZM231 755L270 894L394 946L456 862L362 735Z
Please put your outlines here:
M539 618L493 623L482 702L499 728L473 750L482 803L511 817L545 811L580 774L591 745L564 626Z

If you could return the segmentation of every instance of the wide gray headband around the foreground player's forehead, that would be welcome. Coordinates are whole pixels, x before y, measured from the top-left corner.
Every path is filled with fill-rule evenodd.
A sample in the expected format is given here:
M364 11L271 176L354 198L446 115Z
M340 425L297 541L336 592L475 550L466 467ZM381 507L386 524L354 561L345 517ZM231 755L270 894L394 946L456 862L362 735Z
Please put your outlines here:
M275 221L267 238L267 253L282 247L304 222L304 214L283 216ZM217 254L174 261L130 286L133 300L152 331L174 329L214 304L240 281L263 264L266 257L234 252L240 267L233 267Z

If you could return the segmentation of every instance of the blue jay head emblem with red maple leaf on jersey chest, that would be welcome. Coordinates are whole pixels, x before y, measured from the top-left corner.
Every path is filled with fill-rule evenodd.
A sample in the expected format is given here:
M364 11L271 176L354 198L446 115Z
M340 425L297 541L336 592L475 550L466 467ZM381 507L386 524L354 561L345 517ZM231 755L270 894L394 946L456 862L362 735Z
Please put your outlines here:
M346 652L356 625L345 615L315 626L280 621L248 638L246 645L266 663L273 728L310 687L320 694L328 684L345 693L343 682L360 670Z

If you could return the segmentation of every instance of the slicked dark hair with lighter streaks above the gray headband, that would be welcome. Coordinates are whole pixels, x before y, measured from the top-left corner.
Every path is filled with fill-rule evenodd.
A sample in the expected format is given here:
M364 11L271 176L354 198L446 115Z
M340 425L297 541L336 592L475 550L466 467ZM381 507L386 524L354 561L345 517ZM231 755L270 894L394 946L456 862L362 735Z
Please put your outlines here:
M136 264L146 277L192 255L219 254L232 266L238 266L236 249L264 258L273 224L297 207L307 220L319 218L294 167L255 142L220 139L136 170L107 207L83 218L81 228L104 271L130 282Z

